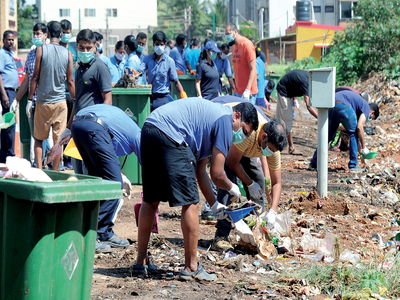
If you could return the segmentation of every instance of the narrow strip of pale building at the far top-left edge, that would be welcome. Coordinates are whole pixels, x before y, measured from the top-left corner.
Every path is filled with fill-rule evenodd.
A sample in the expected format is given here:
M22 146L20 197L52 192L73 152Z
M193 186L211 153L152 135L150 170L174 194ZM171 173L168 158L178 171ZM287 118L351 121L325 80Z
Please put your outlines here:
M17 0L1 0L0 1L0 33L3 39L3 32L11 30L14 32L15 49L14 52L18 55L18 22L17 22ZM3 40L1 41L3 45Z

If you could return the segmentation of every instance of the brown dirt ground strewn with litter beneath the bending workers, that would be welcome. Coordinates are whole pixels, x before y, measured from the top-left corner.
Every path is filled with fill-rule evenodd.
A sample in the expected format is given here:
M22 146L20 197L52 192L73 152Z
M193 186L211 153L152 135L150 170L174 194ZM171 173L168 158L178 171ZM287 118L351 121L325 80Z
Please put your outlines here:
M400 151L395 144L398 121L385 119L385 122L371 123L371 126L379 124L387 134L383 141L379 140L382 134L367 136L368 145L380 151L377 158L360 162L361 167L370 169L369 176L349 172L348 152L329 152L330 193L321 208L319 201L324 199L313 192L317 173L307 170L317 144L317 125L304 104L302 112L303 118L295 114L293 136L297 150L304 155L289 155L287 149L282 153L283 189L278 209L278 213L292 210L294 244L300 243L307 228L315 236L323 237L327 232L338 235L342 249L356 251L363 259L381 253L382 248L371 235L379 233L386 242L390 231L399 230L391 222L400 210L399 202L388 202L383 197L388 188L398 188L398 177L393 178L396 175L393 166L400 163ZM390 134L395 136L391 139ZM126 249L114 249L110 254L96 255L91 299L304 299L306 292L301 282L290 278L280 279L280 282L287 281L284 286L274 285L274 282L284 268L301 268L307 259L286 253L262 261L256 257L257 253L236 245L234 252L243 255L244 267L239 271L235 266L219 265L223 254L207 251L215 226L204 221L200 222L198 260L207 271L215 272L218 280L208 284L179 281L179 270L184 265L180 210L165 203L160 206L159 234L152 236L149 248L149 255L159 271L146 279L132 277L130 266L136 259L138 230L134 205L141 202L140 193L141 186L134 186L133 196L125 199L114 227L118 236L129 239L131 245ZM204 197L201 193L200 196L203 208ZM233 242L235 236L233 230Z

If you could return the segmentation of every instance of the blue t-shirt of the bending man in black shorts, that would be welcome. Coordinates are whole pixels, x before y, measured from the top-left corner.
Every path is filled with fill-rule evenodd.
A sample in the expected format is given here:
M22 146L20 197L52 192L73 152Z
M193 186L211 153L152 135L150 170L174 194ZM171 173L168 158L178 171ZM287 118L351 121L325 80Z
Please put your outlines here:
M213 146L225 157L232 144L233 111L229 106L188 98L153 111L146 119L175 142L185 142L196 160L209 157Z

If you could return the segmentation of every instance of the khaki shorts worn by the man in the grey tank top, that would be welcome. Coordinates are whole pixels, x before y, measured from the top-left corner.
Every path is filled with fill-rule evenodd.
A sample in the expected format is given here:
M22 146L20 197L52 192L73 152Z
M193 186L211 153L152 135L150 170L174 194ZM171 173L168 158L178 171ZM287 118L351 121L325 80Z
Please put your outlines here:
M50 127L53 129L53 141L57 143L67 127L68 108L66 101L57 103L35 104L35 132L34 137L44 141L49 136Z

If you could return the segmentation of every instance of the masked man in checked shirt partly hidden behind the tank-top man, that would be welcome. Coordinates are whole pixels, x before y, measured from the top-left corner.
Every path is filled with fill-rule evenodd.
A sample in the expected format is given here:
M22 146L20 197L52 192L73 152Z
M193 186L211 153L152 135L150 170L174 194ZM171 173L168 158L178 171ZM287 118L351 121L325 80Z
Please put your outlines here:
M35 48L32 49L25 62L25 78L21 83L21 86L18 89L17 96L15 96L15 100L19 103L21 98L25 95L26 91L28 88L30 88L31 84L31 79L33 75L33 71L35 68L35 59L36 59L36 49L41 47L43 44L46 43L47 39L47 34L48 34L48 29L46 24L44 23L37 23L35 26L33 26L33 34L32 34L32 44L35 45ZM36 92L35 91L32 101L28 100L28 103L26 104L26 115L28 117L28 123L29 127L31 130L31 144L30 144L30 161L33 166L36 166L35 162L35 138L34 136L34 118L35 118L35 102L36 102ZM48 145L50 144L50 138L47 140L43 141L43 148L47 148ZM48 144L48 145L46 145Z

